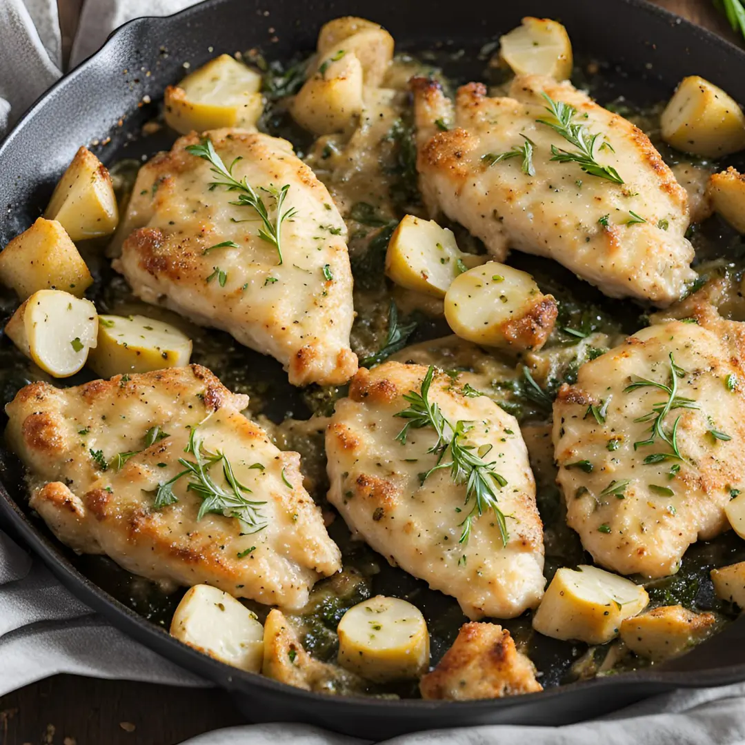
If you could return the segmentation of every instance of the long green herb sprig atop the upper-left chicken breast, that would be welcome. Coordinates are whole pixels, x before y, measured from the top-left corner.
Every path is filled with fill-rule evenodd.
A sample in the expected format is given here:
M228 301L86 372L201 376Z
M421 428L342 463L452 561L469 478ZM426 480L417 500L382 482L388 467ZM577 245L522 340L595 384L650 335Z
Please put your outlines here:
M238 198L232 201L231 204L235 204L239 207L253 207L256 210L256 214L259 215L259 219L263 226L259 229L259 238L267 243L273 245L276 248L277 256L279 257L279 264L282 264L282 223L285 220L294 218L297 215L297 209L291 208L284 212L282 206L285 203L285 198L290 190L290 185L285 184L282 188L276 188L275 186L261 186L260 190L264 191L265 194L269 194L274 200L274 218L270 218L269 211L267 210L266 204L261 195L247 182L246 177L243 177L240 181L232 175L235 164L241 160L241 156L238 156L233 162L226 168L223 163L223 159L218 155L215 150L215 146L212 145L212 140L209 137L204 137L199 145L188 145L186 152L191 155L197 156L209 162L212 171L217 178L212 181L209 188L217 188L218 186L224 186L228 191L238 191Z

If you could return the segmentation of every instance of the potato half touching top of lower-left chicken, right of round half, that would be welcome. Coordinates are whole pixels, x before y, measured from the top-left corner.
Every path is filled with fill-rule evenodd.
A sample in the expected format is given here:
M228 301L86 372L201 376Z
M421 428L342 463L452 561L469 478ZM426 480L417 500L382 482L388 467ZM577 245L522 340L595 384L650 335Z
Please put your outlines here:
M88 366L102 378L185 367L191 339L170 323L145 316L99 316L98 346Z

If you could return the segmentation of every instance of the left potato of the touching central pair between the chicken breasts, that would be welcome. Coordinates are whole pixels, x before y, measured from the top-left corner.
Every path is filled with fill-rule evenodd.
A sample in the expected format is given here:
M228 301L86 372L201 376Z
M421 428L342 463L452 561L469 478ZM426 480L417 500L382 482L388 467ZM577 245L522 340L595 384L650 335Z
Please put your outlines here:
M385 273L396 285L442 298L459 274L484 261L483 256L463 253L451 230L406 215L390 237Z

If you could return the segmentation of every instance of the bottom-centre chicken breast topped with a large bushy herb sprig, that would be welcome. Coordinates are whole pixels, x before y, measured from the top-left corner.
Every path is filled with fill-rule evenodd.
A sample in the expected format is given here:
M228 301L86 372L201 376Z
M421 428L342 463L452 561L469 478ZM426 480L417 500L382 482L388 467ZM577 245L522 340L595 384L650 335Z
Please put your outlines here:
M361 369L326 453L329 501L391 564L453 595L469 618L539 603L543 531L525 444L516 419L460 375Z

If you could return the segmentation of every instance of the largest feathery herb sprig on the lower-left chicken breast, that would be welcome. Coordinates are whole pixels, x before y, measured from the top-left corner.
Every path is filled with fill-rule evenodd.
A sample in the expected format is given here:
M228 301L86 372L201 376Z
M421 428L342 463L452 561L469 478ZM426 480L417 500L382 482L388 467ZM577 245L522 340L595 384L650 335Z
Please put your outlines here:
M178 501L174 495L173 485L181 478L188 476L187 491L197 492L202 499L197 521L207 513L219 513L226 517L238 518L246 528L243 530L244 533L258 533L266 527L267 520L261 515L259 508L267 503L246 498L245 495L250 494L251 490L235 478L232 464L226 454L220 451L212 453L203 449L202 441L197 435L197 427L191 429L184 452L193 454L194 460L179 458L183 471L177 473L169 481L158 485L154 504L156 510ZM209 473L209 469L218 463L222 466L223 477L229 488L217 484Z

